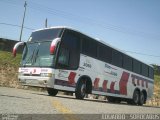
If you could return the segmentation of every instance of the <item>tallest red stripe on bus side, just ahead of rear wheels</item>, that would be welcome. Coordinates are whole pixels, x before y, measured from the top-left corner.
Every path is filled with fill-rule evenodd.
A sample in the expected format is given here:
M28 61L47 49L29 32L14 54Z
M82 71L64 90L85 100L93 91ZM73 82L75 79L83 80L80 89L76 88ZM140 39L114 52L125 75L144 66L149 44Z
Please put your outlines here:
M119 92L122 95L127 95L127 83L128 83L128 79L129 79L129 73L127 72L123 72L122 76L121 76L121 80L119 82ZM135 82L132 79L132 83Z

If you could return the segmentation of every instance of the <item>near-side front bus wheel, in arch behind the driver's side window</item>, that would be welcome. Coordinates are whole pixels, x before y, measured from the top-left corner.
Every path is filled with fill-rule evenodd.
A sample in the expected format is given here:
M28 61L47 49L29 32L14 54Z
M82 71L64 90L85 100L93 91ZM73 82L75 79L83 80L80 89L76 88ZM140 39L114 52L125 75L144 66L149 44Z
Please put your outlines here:
M85 80L81 80L77 85L75 96L77 99L83 99L85 95L86 95L86 82Z

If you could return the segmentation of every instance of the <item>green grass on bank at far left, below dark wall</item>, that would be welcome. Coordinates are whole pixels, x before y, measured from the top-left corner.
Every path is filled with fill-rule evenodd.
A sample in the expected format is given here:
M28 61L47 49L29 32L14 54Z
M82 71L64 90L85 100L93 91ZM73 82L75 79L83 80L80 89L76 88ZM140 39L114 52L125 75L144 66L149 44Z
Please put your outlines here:
M21 54L14 58L11 52L0 51L0 66L18 67L21 61Z

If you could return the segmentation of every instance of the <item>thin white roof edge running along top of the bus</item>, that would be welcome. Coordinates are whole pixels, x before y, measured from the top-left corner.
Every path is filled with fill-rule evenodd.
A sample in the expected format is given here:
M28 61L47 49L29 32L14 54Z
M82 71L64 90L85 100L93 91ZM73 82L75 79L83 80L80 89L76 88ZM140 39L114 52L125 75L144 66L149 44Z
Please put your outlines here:
M93 37L91 37L91 36L89 36L89 35L87 35L87 34L85 34L85 33L83 33L83 32L80 32L80 31L78 31L78 30L76 30L76 29L74 29L74 28L72 28L72 27L68 27L68 26L55 26L55 27L48 27L48 28L37 29L37 30L35 30L35 31L33 31L33 32L40 31L40 30L45 30L45 29L55 29L55 28L69 29L69 30L72 30L72 31L75 31L75 32L79 32L79 33L81 33L81 34L83 34L83 35L86 35L86 36L88 36L88 37L90 37L90 38L92 38L92 39L94 39L94 40L96 40L96 41L98 41L98 42L100 42L100 43L102 43L102 44L104 44L104 45L107 45L107 46L109 46L109 47L111 47L111 48L113 48L113 49L115 49L115 50L117 50L117 51L119 51L119 52L121 52L121 53L123 53L123 54L125 54L125 55L127 55L127 56L129 56L129 57L131 57L131 58L133 58L133 59L135 59L135 60L137 60L137 61L139 61L139 62L141 62L141 63L144 63L144 64L146 64L146 65L148 65L148 66L150 66L150 67L153 68L152 65L149 65L149 64L147 64L147 63L145 63L145 62L142 62L141 60L138 60L138 59L132 57L131 55L127 54L126 52L124 52L124 51L122 51L122 50L120 50L120 49L118 49L118 48L113 47L112 45L110 45L110 44L102 41L101 39L99 39L99 38L93 38Z

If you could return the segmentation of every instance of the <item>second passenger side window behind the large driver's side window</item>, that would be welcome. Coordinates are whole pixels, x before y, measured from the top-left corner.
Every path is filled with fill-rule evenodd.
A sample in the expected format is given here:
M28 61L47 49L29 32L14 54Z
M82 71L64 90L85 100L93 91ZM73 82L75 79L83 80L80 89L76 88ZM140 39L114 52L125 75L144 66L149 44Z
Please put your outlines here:
M108 46L100 44L98 49L98 56L100 60L111 63L112 49Z

